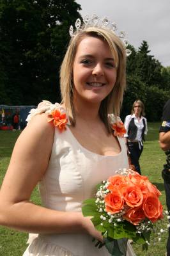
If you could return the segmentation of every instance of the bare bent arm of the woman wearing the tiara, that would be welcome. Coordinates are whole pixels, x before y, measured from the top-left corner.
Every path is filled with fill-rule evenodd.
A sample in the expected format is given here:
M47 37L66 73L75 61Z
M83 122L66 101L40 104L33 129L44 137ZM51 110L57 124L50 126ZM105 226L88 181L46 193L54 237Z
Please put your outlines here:
M32 233L88 232L102 239L81 212L35 205L30 196L49 164L54 127L36 115L20 134L0 191L0 225Z

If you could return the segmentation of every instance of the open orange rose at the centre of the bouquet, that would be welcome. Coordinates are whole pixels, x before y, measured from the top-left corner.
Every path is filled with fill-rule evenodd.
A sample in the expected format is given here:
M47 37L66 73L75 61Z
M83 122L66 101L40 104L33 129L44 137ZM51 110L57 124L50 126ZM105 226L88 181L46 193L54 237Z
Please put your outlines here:
M122 195L126 204L132 208L143 204L143 193L138 186L126 186L122 188Z

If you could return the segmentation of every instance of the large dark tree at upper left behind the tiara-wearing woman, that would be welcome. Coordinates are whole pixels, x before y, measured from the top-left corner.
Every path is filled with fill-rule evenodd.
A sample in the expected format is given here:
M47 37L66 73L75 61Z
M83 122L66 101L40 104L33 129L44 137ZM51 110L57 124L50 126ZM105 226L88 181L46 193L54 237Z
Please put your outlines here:
M59 67L78 10L75 0L1 0L3 90L11 104L60 100Z

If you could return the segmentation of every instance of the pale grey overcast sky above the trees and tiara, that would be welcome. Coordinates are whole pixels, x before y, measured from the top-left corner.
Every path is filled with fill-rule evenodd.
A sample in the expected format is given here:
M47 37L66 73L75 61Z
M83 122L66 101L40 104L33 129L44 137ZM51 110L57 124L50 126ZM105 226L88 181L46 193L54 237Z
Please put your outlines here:
M170 0L76 0L81 15L97 14L116 22L118 31L125 30L126 38L135 49L146 40L150 54L170 66Z

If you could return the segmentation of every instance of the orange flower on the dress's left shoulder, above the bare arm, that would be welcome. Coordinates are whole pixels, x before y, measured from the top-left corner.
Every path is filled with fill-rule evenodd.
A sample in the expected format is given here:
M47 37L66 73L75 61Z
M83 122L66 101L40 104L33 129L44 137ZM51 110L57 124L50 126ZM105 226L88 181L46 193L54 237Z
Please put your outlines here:
M58 129L62 132L66 130L66 124L68 122L68 118L66 117L66 113L61 113L58 109L54 109L49 114L49 120L48 122L52 122L55 127L58 127Z

